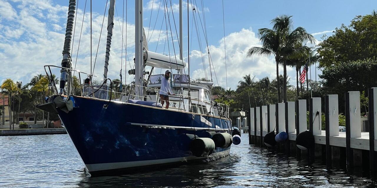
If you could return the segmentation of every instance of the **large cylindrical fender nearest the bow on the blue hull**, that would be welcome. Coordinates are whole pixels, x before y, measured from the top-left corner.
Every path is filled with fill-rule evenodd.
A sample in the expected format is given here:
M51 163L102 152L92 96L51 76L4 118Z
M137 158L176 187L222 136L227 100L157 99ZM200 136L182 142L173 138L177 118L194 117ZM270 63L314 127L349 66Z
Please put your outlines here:
M196 157L211 155L215 150L215 143L210 138L195 138L190 143L190 151Z

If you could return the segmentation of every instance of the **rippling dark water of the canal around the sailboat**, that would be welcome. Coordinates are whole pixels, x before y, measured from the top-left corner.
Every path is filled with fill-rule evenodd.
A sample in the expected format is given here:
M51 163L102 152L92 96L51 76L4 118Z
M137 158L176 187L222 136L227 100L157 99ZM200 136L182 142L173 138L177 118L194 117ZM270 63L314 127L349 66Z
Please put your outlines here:
M369 187L374 181L248 145L217 161L90 177L68 135L0 136L0 187Z

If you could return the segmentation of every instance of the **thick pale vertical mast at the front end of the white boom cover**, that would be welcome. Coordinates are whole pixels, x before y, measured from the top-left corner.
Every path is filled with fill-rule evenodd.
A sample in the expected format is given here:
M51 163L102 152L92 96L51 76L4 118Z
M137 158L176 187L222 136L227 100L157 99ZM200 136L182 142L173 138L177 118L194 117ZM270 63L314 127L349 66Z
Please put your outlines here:
M144 99L143 0L135 0L135 99Z

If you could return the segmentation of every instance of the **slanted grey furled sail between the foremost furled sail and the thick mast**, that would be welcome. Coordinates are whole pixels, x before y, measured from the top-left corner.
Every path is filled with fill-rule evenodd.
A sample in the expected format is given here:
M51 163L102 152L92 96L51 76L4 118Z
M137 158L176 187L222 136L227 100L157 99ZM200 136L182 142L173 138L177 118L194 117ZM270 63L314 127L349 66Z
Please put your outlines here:
M109 15L107 17L107 40L106 40L105 68L104 68L104 71L103 71L104 81L107 79L107 71L109 71L109 69L107 67L109 66L110 45L111 45L111 38L113 36L114 6L115 6L115 0L110 0Z

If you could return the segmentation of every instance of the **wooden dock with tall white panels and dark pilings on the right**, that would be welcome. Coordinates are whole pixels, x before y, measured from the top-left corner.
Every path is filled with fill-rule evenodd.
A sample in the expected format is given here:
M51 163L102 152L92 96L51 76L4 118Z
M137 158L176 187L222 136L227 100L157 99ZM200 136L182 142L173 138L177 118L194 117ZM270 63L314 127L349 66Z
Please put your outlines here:
M339 132L337 95L325 96L325 106L321 106L320 97L313 97L308 101L297 100L250 108L250 126L247 127L249 144L267 147L264 139L267 133L285 132L287 139L269 148L290 156L306 158L309 162L322 161L328 167L340 165L349 171L357 168L376 176L377 140L374 135L377 129L374 129L374 125L377 125L377 88L368 90L368 98L369 132L361 131L359 91L345 93L345 101L341 101L345 103L346 132ZM322 130L322 114L325 115L325 130ZM301 150L296 145L296 138L299 133L308 133L307 131L314 136L314 147Z

